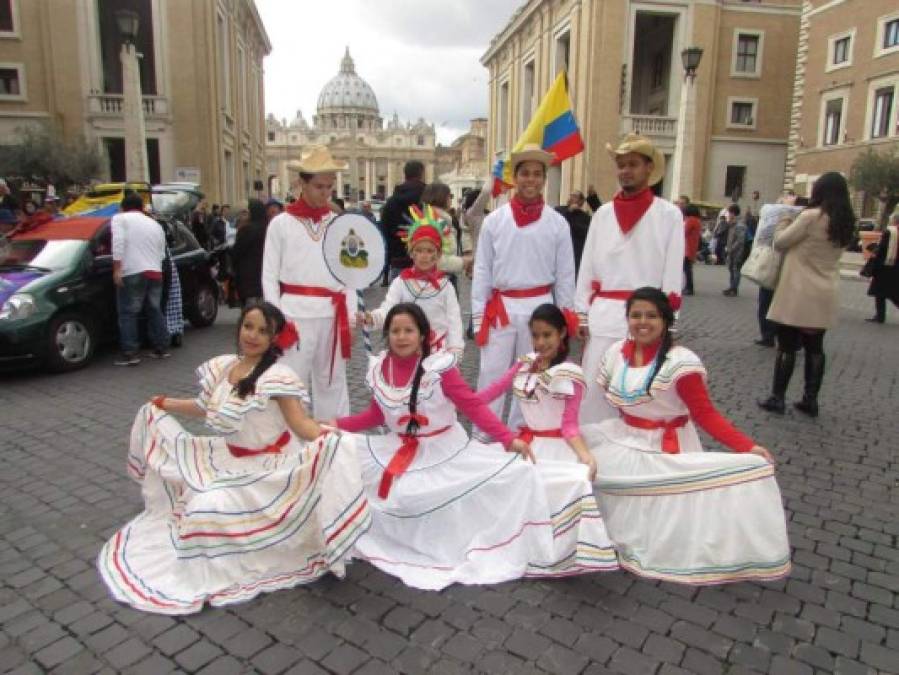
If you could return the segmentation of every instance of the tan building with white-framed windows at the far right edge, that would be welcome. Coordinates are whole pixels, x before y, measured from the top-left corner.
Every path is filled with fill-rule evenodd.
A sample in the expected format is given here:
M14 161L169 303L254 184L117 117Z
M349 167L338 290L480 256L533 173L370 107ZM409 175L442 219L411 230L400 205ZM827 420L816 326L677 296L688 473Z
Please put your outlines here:
M806 0L802 6L784 185L807 194L826 171L849 175L868 148L899 147L899 5ZM876 195L857 195L864 215Z

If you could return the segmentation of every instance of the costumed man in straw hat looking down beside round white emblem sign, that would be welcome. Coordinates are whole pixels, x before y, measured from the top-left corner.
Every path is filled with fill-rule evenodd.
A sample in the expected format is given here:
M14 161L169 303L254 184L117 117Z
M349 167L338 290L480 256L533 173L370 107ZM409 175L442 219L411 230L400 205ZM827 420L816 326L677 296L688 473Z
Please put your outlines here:
M300 173L300 196L268 225L262 292L300 333L282 361L309 387L315 417L332 420L350 412L346 363L356 300L354 289L328 270L322 243L337 216L330 207L331 190L346 165L317 146L291 168Z

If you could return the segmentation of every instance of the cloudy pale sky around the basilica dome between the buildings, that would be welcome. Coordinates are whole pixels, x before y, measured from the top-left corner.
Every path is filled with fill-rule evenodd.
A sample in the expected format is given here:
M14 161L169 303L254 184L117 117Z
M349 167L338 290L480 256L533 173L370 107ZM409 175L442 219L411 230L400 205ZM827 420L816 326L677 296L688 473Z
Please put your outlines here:
M306 121L349 46L385 121L424 117L447 144L487 115L479 59L523 0L256 0L272 53L266 113Z

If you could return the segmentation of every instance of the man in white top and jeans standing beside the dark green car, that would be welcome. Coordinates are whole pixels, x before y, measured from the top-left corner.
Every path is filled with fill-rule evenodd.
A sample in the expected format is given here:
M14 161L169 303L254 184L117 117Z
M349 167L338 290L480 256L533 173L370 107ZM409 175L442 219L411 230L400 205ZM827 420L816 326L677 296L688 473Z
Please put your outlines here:
M150 356L164 359L171 338L162 313L162 262L165 259L165 232L143 212L144 202L136 192L122 200L121 212L112 217L112 279L116 285L119 344L122 353L117 366L140 363L138 318L143 311L153 351Z

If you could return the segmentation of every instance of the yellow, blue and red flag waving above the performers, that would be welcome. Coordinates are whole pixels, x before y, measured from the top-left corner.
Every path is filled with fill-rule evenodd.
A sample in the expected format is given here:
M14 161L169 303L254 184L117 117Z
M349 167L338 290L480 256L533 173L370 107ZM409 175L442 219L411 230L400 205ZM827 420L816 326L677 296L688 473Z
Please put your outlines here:
M584 139L574 117L571 98L568 96L568 77L559 73L549 91L540 101L527 129L518 138L512 152L528 143L536 143L556 158L553 164L561 164L584 150ZM512 164L500 159L493 167L493 196L512 187Z

